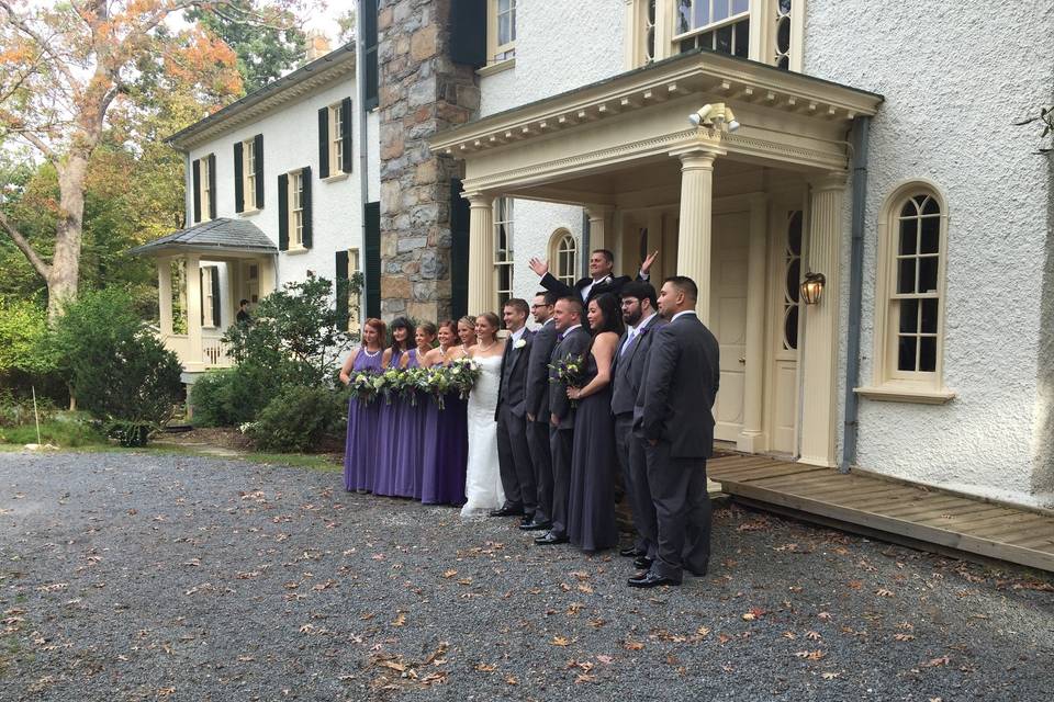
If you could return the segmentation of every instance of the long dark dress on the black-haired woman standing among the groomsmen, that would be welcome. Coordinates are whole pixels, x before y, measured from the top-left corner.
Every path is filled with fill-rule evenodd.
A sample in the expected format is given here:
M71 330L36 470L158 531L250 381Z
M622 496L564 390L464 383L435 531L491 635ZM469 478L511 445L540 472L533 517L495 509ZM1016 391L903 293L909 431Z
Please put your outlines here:
M586 382L596 376L596 359L586 358ZM579 400L568 492L568 539L584 551L618 544L615 521L615 418L612 386Z

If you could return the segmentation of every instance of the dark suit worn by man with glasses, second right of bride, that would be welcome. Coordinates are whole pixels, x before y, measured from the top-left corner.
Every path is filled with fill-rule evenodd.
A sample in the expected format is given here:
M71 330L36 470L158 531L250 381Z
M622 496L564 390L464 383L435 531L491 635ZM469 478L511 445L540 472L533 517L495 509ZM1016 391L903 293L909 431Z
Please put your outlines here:
M549 359L557 346L557 324L549 320L539 327L530 340L527 359L527 381L524 414L535 421L526 420L530 462L535 468L535 485L538 490L535 521L552 521L552 448L549 443Z

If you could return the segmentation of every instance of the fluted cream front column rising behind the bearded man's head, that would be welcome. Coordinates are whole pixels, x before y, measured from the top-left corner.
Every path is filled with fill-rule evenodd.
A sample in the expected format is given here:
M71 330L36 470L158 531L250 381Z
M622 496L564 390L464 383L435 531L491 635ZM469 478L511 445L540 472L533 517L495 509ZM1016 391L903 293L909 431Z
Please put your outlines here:
M675 154L681 159L681 222L677 231L677 275L687 275L699 288L695 312L710 319L710 259L714 219L714 159L717 149L696 148Z

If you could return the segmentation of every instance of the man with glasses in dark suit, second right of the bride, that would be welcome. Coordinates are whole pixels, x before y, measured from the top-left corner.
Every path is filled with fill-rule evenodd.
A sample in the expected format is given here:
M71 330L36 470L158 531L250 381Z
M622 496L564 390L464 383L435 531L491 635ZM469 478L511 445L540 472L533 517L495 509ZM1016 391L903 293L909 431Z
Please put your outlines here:
M525 419L530 462L535 466L538 498L535 518L520 524L524 531L548 531L552 526L552 450L549 445L549 359L557 346L557 322L552 317L557 294L541 292L535 295L530 314L540 325L530 340L527 360Z

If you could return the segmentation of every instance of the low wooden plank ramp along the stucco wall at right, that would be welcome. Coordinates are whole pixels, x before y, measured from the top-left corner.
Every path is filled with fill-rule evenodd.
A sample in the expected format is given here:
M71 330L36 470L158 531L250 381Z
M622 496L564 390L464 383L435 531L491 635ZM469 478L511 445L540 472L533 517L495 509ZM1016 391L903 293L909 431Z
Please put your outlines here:
M767 456L717 457L707 474L728 495L774 511L1054 571L1054 516L1041 511Z

